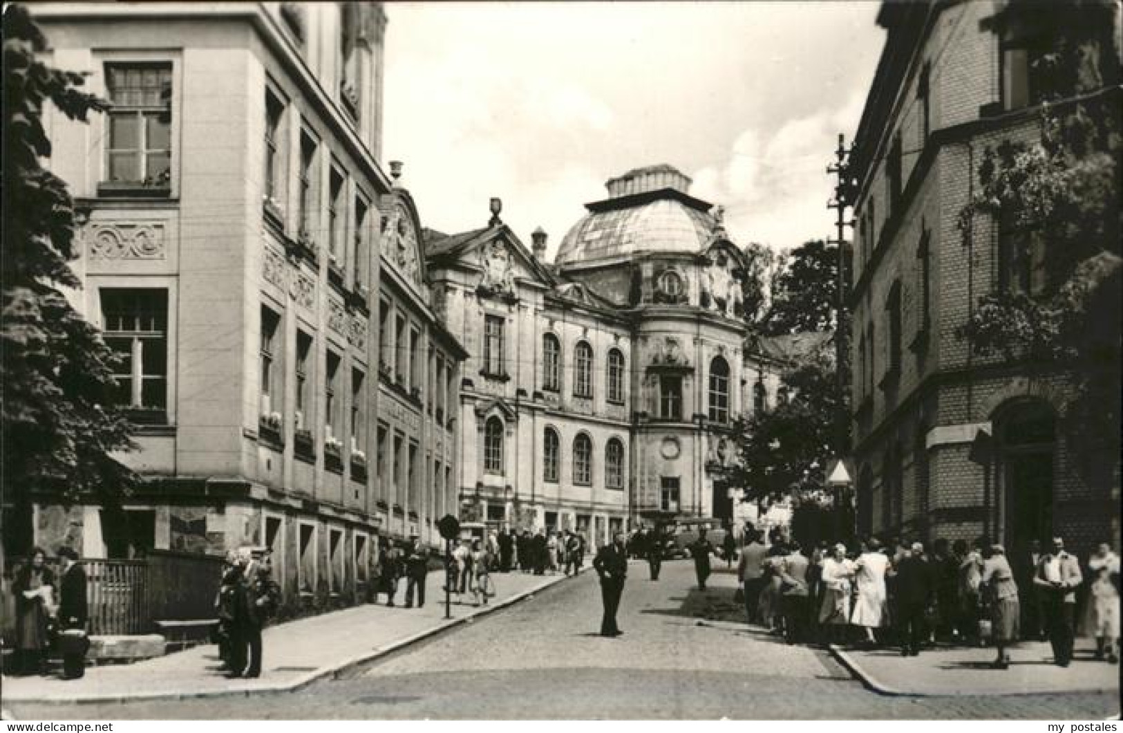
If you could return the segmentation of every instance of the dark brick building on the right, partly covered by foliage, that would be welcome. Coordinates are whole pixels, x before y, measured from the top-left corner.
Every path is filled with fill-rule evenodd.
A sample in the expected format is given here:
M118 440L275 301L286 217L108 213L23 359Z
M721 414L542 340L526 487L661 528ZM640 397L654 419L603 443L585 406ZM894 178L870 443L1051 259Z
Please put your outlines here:
M887 38L852 153L853 442L866 532L986 534L1017 549L1059 533L1081 552L1117 536L1119 455L1076 444L1072 374L980 358L956 332L980 296L1033 296L1044 274L1043 242L1020 255L1024 233L987 217L964 236L959 212L984 150L1035 141L1050 91L1061 92L1061 110L1077 97L1117 110L1119 18L1117 2L882 6ZM1043 56L1063 48L1086 64L1080 89L1050 88Z

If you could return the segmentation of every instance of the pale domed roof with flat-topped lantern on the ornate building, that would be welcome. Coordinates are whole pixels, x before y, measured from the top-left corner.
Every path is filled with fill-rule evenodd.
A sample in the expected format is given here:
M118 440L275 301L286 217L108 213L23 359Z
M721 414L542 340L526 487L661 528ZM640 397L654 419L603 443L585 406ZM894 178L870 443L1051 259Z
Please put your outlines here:
M565 235L555 263L705 248L720 223L709 214L710 203L690 196L690 184L691 179L666 164L611 179L609 198L585 205L588 214Z

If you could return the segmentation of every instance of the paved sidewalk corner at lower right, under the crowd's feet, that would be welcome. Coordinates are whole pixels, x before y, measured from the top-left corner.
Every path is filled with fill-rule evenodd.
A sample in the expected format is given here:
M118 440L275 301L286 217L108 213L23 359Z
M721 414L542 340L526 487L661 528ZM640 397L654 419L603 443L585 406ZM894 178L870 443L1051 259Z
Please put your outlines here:
M885 695L1021 695L1111 691L1119 694L1120 667L1095 661L1095 642L1078 639L1067 667L1052 663L1048 642L1025 642L1010 650L1010 668L990 669L993 648L940 646L919 657L896 649L840 649L831 652L867 687Z

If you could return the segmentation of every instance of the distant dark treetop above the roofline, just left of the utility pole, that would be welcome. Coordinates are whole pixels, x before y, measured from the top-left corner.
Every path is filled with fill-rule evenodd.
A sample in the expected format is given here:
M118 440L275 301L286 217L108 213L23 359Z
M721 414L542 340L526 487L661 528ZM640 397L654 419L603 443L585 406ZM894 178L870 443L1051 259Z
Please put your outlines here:
M787 255L757 333L779 336L834 328L838 314L838 246L805 242Z

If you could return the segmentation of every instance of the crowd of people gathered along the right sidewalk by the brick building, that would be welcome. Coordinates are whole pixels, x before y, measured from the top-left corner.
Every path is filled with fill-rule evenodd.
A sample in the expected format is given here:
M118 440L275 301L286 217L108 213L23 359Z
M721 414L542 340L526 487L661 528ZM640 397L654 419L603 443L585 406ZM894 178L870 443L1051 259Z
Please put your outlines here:
M768 544L751 528L746 537L738 580L748 621L789 643L898 646L903 655L937 642L990 644L992 666L1005 669L1011 645L1048 639L1053 662L1068 667L1083 626L1096 639L1095 659L1119 661L1120 559L1107 543L1081 568L1061 537L1013 561L983 539L925 546L870 537L860 548L823 543L805 552L778 533ZM704 588L700 555L709 553L692 553ZM1078 600L1086 613L1077 613Z

